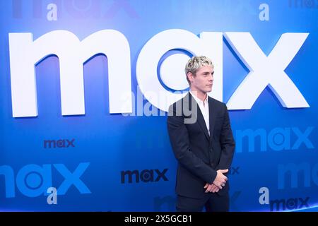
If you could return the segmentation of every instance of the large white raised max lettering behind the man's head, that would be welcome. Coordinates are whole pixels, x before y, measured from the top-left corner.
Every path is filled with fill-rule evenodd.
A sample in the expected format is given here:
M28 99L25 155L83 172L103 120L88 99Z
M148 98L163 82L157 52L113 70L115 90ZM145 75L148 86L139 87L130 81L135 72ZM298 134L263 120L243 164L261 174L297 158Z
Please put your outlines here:
M269 56L260 49L249 32L225 32L224 36L249 74L228 101L228 109L251 109L261 92L269 86L283 107L310 107L293 81L284 72L309 33L284 33ZM60 65L61 114L85 114L83 64L96 54L108 59L110 113L131 113L131 59L126 37L117 30L100 30L84 40L67 30L54 30L33 40L32 33L9 33L11 97L13 117L37 116L35 64L57 55ZM172 93L160 84L158 62L171 49L184 49L193 55L212 59L215 80L211 97L223 100L223 32L165 30L141 49L136 63L139 88L149 102L167 112L175 100L184 97L187 88L183 68L189 59L184 54L167 57L160 67L160 77ZM171 66L179 70L171 73ZM164 100L160 98L164 97ZM128 100L128 102L127 102ZM125 104L123 105L123 102Z

